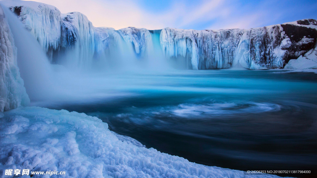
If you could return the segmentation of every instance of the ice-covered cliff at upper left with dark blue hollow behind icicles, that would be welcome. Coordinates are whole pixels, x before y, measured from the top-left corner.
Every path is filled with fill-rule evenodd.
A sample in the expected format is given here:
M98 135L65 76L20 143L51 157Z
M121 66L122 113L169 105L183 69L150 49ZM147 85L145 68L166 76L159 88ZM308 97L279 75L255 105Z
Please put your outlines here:
M86 16L78 12L61 14L54 6L32 1L4 1L2 4L10 7L35 36L52 63L88 65L86 59L94 54L94 27Z

